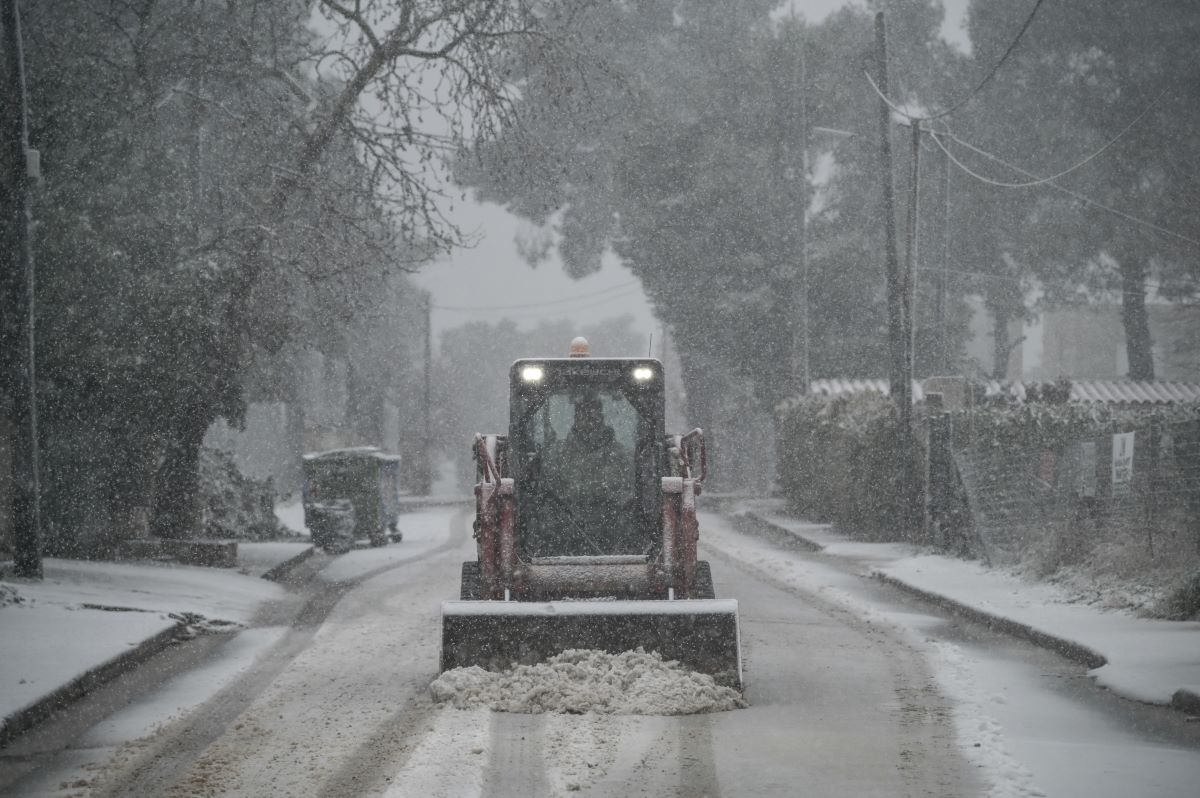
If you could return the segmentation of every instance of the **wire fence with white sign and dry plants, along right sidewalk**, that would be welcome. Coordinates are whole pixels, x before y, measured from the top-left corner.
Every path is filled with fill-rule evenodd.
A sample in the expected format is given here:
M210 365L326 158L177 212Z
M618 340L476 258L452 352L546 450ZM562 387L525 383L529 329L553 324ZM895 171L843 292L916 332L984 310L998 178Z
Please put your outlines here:
M984 445L930 419L929 528L1009 564L1079 562L1103 542L1200 557L1200 421L1130 425L1055 448Z

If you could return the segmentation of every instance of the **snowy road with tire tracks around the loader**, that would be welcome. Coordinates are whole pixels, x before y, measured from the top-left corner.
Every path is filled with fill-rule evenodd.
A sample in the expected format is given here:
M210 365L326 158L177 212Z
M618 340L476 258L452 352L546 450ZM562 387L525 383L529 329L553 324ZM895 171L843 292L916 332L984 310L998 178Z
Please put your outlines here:
M1086 686L1038 678L1074 666L986 656L1010 643L716 517L702 522L704 553L718 595L740 602L749 708L436 706L438 605L472 552L469 517L442 509L407 520L404 542L326 564L287 628L278 607L232 652L84 732L11 794L1170 796L1200 780L1200 746L1170 722L1133 732ZM253 665L233 667L238 652ZM200 690L197 679L211 689L194 708L156 714L164 694Z

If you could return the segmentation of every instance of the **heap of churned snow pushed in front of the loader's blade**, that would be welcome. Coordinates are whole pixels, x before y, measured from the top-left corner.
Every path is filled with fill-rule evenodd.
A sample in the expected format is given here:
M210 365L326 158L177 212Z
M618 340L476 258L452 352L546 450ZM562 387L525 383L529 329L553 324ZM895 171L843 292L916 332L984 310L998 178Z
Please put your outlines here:
M713 677L642 649L620 654L570 649L511 671L452 668L430 690L434 701L451 702L458 709L529 714L691 715L746 706L737 690L716 684Z

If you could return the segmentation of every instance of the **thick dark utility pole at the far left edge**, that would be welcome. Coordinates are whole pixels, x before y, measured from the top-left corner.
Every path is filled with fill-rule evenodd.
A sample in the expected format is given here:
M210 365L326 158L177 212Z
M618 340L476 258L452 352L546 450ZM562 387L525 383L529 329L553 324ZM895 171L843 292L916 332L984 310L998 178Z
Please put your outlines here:
M0 342L7 350L0 366L8 385L12 421L12 529L13 564L17 576L42 577L41 487L37 473L37 402L34 358L34 251L30 241L32 199L30 181L36 154L29 149L29 109L25 97L25 60L17 0L0 0L0 34L4 36L5 102L4 163L0 175L0 206L7 230L0 242L6 260L2 301L4 329ZM0 234L2 235L2 234ZM2 278L2 277L0 277Z

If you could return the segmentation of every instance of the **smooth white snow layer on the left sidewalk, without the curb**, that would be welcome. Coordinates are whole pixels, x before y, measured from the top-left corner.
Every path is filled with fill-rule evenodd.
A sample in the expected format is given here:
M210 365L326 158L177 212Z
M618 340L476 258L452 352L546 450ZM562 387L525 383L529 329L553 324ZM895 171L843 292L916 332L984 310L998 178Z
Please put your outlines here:
M184 613L247 624L284 595L227 569L46 559L43 570L41 582L4 583L22 601L0 606L0 718L175 626Z

